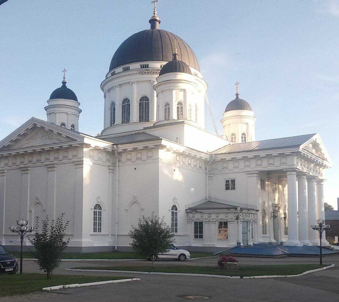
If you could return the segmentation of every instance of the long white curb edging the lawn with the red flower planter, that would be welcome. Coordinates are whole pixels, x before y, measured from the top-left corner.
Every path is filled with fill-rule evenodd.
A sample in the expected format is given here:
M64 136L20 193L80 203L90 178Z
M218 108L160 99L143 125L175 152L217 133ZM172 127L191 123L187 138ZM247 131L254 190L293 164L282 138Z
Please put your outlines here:
M131 271L131 270L109 270L109 269L76 269L76 268L65 268L65 270L73 271L92 271L92 272L105 272L105 273L125 273L125 274L143 274L143 275L169 275L169 276L188 276L188 277L209 277L209 278L222 278L222 279L263 279L263 278L281 278L281 277L299 277L306 274L314 273L316 271L325 270L327 268L334 267L334 264L325 266L322 268L307 270L304 273L298 275L270 275L270 276L250 276L250 277L239 277L239 276L223 276L223 275L206 275L206 274L183 274L183 273L156 273L148 271Z

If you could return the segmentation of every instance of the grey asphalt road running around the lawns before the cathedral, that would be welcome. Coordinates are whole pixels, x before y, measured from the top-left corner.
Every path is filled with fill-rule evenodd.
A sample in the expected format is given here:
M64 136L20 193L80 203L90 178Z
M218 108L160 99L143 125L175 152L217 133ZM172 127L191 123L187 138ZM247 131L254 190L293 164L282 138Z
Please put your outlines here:
M242 264L292 264L317 263L317 258L239 258ZM156 265L215 265L216 258L198 259L179 263L177 261L157 261ZM133 275L126 273L97 273L66 271L64 268L76 266L148 266L147 261L80 261L63 262L54 274L100 275L138 277L131 281L100 286L69 288L25 296L6 297L3 302L17 301L184 301L180 295L201 295L211 301L339 301L339 255L324 258L324 263L336 267L317 273L293 278L270 279L216 279L206 277L182 277L162 275ZM39 272L33 261L24 261L24 271ZM189 300L186 300L189 301Z

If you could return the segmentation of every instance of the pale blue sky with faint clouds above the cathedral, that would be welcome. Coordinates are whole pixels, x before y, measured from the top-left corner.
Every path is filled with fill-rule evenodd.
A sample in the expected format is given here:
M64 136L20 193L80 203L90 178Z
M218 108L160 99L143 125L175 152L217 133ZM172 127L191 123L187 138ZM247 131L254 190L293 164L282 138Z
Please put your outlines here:
M339 0L160 0L160 28L185 40L208 84L219 133L222 113L240 98L255 113L256 140L319 133L334 167L325 202L339 197ZM100 83L112 56L149 28L151 0L8 0L0 6L0 140L44 107L61 86L81 105L79 129L103 129ZM240 54L237 54L240 53ZM207 114L207 129L214 132Z

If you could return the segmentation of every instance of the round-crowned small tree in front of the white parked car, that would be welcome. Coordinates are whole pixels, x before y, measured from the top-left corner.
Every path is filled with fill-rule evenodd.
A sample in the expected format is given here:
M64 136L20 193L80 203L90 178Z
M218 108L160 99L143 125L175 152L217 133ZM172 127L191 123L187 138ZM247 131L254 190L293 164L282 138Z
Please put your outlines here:
M157 255L165 253L168 246L174 242L171 227L165 223L164 219L164 217L155 216L152 212L151 217L142 216L138 226L132 226L132 230L128 233L132 238L131 246L135 253L147 259L150 258L152 267L154 267L154 259Z

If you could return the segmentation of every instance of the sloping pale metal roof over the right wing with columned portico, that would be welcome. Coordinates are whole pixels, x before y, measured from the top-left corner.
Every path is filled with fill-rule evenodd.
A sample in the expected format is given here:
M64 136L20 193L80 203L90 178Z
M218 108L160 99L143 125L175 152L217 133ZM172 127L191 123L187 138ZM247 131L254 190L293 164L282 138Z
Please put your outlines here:
M224 147L221 147L212 154L228 154L228 153L237 153L237 152L250 152L255 150L265 150L265 149L281 149L281 148L292 148L299 147L303 143L307 142L315 134L305 134L299 136L291 136L284 138L268 139L263 141L254 141L247 143L237 143L230 144Z

